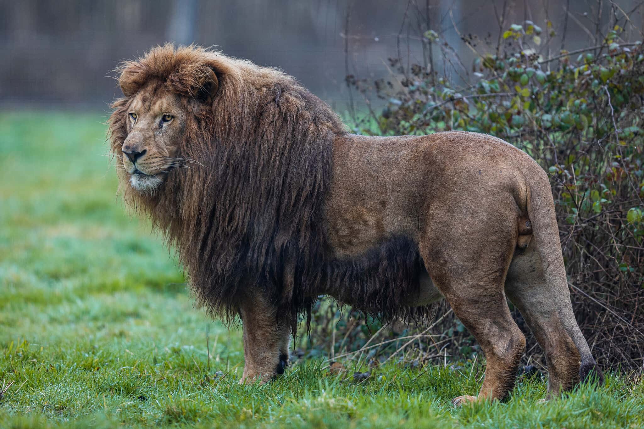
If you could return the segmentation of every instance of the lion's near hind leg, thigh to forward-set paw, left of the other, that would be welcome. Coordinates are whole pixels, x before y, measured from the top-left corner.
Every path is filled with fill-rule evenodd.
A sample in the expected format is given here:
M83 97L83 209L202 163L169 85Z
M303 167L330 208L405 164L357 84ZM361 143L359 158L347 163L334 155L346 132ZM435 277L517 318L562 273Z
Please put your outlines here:
M421 244L421 254L435 285L477 339L487 360L478 396L459 396L453 403L504 399L515 384L526 347L526 338L512 319L504 294L516 245L513 220L504 222L495 212L482 210L477 218L471 218L475 227L462 234L459 212L450 209L456 214L442 216L444 223L429 231L428 245Z

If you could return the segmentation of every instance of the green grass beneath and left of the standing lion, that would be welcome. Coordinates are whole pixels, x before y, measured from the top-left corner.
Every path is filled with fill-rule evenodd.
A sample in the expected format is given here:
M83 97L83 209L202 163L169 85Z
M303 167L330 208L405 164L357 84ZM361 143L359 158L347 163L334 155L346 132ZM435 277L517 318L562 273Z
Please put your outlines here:
M239 330L194 308L162 238L126 214L102 120L0 114L1 428L644 426L643 383L614 374L547 404L524 379L462 409L450 399L476 394L480 363L387 363L355 383L310 360L238 385Z

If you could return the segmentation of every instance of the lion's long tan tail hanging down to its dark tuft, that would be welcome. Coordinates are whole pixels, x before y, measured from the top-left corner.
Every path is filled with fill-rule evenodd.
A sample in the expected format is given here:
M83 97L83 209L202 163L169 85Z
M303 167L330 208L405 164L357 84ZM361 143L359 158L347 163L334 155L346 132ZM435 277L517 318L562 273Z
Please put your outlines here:
M527 213L532 224L536 249L544 267L545 280L550 286L553 300L558 303L558 316L562 325L573 339L582 359L580 379L584 381L594 372L598 381L603 383L603 374L597 367L588 343L574 318L550 182L545 171L536 163L531 178L527 180L526 190Z

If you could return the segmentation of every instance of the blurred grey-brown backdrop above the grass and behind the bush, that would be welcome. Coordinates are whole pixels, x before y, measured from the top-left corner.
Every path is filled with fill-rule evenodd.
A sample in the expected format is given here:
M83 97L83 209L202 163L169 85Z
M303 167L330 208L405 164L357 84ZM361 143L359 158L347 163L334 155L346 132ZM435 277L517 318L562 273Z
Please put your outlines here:
M600 10L594 0L1 0L0 106L104 109L120 95L108 78L118 62L172 41L282 68L343 110L346 75L386 77L387 59L401 50L422 63L419 30L437 32L469 68L473 52L462 37L476 35L477 49L489 43L493 52L509 24L531 20L545 29L549 19L556 36L547 49L558 52L565 26L574 50L597 23L605 27L611 4L634 10L630 21L641 27L638 3L604 1Z

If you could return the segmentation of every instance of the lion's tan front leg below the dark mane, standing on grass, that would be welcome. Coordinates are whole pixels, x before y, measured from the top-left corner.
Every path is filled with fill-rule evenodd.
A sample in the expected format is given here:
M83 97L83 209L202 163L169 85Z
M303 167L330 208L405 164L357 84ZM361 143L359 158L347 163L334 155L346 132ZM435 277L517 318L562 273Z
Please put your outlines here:
M240 383L261 383L283 374L288 361L290 323L261 292L240 307L243 324L244 367Z

